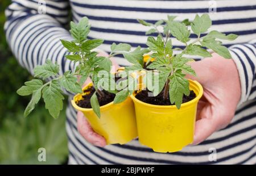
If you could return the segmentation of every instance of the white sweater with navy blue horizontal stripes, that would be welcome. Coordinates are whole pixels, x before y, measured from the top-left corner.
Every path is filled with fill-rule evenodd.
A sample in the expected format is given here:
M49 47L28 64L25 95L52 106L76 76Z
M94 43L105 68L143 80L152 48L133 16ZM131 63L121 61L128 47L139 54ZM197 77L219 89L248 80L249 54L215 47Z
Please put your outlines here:
M60 39L71 40L64 28L70 9L75 22L88 16L92 24L90 39L104 39L100 49L109 52L113 42L146 47L144 32L148 28L138 24L137 18L154 23L170 14L177 15L177 20L192 20L195 14L208 13L214 6L216 12L209 14L212 30L239 35L237 40L224 43L236 62L242 90L236 115L228 127L200 145L176 153L152 152L138 140L98 148L77 132L76 111L69 104L69 164L256 164L256 1L13 0L6 9L6 37L20 65L31 74L47 58L60 64L59 74L75 68L73 62L65 60L67 49L60 43ZM184 47L178 41L173 45ZM127 65L123 58L117 61ZM209 160L212 148L216 149L217 161Z

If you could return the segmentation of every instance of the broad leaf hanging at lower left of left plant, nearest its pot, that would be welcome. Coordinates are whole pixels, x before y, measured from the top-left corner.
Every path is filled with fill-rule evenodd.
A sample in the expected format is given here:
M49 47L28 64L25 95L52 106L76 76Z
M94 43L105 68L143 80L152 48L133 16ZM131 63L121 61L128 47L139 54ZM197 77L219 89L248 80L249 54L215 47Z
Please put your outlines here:
M46 103L46 109L53 118L58 118L63 109L63 95L56 82L52 82L43 89L43 99Z

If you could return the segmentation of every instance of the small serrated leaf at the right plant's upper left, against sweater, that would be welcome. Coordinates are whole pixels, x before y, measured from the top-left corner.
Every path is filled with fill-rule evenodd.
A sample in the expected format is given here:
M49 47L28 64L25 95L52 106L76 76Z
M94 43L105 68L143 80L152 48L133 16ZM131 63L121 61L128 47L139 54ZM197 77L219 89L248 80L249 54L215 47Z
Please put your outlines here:
M152 36L147 37L147 43L146 45L149 47L151 51L156 51L159 53L164 52L164 42L162 40L162 37L158 35L158 37L155 38Z

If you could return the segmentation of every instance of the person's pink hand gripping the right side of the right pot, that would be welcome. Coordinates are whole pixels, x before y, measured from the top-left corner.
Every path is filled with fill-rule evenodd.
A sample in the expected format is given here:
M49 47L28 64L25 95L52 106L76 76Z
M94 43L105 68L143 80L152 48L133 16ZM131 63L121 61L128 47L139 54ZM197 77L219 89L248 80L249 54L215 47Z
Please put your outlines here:
M213 53L212 58L191 62L201 83L203 97L197 106L197 121L193 145L207 139L213 132L225 128L233 119L241 97L241 85L236 64Z

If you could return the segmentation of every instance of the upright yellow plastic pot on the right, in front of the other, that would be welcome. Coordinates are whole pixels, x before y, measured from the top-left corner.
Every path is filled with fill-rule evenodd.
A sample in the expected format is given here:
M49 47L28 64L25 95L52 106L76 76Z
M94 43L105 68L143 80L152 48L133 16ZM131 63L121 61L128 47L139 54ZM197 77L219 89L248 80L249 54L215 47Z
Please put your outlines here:
M197 81L189 80L189 88L196 98L176 106L159 106L144 103L131 95L135 105L138 137L142 145L155 152L177 152L193 142L196 109L203 95L203 87Z

